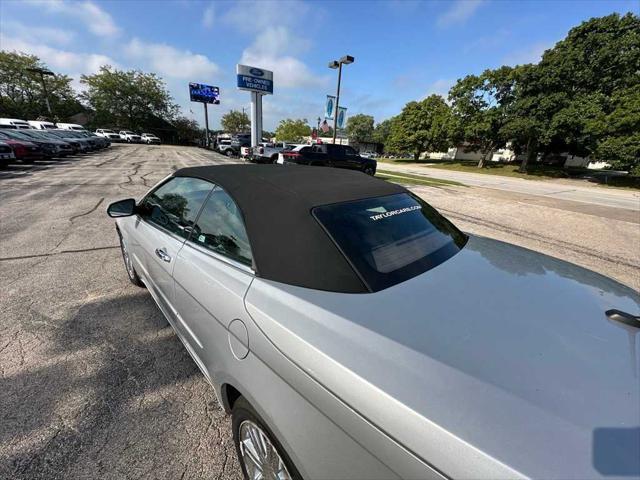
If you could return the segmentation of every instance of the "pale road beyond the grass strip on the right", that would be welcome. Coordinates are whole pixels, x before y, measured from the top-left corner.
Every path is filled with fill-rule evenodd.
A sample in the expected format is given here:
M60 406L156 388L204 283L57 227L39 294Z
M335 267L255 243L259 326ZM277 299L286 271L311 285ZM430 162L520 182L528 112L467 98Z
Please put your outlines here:
M570 200L603 207L640 212L640 192L607 188L574 180L529 180L482 173L457 172L422 165L381 163L380 169L454 180L465 185L504 190L526 195L538 195L557 200Z

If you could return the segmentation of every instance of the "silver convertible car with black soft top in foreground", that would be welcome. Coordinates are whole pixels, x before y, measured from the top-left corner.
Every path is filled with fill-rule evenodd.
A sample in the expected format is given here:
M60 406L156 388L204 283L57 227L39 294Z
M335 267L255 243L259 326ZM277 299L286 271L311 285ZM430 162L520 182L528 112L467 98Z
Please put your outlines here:
M185 168L108 213L246 478L640 477L640 299L611 279L330 168Z

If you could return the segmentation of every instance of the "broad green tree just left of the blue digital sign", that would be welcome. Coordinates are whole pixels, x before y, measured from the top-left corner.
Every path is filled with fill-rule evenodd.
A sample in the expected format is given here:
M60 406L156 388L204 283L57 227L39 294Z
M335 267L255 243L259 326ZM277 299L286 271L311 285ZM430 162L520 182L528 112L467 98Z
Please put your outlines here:
M94 75L82 75L80 81L87 86L82 98L94 110L96 125L144 130L157 118L171 120L178 112L164 82L154 73L106 65Z

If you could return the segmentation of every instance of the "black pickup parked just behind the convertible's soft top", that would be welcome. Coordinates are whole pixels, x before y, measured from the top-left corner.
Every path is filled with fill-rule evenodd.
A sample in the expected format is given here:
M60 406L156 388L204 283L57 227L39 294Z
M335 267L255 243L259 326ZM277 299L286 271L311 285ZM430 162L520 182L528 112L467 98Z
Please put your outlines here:
M282 152L284 163L319 167L348 168L375 175L377 162L361 157L353 147L323 143Z

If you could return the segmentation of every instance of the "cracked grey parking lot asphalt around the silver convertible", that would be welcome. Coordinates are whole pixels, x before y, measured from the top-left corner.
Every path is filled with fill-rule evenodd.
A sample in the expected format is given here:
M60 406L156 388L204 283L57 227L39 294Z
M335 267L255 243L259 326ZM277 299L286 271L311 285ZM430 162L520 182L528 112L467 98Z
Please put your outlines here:
M229 161L114 145L0 169L0 478L240 478L229 418L149 294L128 282L105 214L177 168ZM632 211L412 189L465 231L640 288Z

